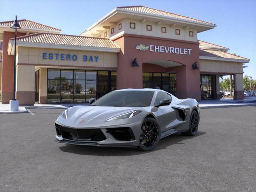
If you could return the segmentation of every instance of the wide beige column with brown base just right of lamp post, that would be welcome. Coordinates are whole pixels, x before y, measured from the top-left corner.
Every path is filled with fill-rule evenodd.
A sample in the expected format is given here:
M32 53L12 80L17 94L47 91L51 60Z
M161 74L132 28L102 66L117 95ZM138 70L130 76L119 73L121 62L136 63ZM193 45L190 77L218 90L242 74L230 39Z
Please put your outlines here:
M33 65L16 66L16 98L19 104L35 103L35 67Z

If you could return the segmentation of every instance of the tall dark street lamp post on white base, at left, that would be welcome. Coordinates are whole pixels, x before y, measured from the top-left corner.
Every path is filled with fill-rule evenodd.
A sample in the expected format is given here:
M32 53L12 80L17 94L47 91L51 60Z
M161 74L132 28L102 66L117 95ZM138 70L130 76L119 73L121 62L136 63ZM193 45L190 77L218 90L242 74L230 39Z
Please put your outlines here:
M18 24L17 16L10 27L15 29L15 40L14 40L14 61L13 61L13 99L10 100L10 111L18 111L19 110L19 101L16 100L15 91L16 91L16 41L17 41L17 29L20 29L20 24Z

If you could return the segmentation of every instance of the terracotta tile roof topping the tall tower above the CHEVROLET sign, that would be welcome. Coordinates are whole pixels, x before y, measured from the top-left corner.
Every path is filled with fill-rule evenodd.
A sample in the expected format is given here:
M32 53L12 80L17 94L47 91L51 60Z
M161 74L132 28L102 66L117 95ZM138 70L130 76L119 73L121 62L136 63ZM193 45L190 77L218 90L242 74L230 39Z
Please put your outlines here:
M189 21L199 22L199 23L204 23L204 24L215 25L214 23L210 23L210 22L206 22L206 21L202 21L202 20L166 12L166 11L162 11L162 10L157 10L157 9L145 7L145 6L127 6L127 7L117 7L117 8L124 9L124 10L136 11L136 12L149 13L149 14L154 14L154 15L160 15L160 16L167 16L167 17L177 18L177 19L184 19L184 20L189 20Z

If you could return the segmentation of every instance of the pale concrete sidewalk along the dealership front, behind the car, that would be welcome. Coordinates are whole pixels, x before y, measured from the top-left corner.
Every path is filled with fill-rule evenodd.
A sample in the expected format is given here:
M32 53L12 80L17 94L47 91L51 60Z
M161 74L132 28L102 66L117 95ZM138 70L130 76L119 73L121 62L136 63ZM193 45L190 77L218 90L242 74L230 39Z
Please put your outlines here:
M202 100L199 101L201 109L206 108L226 108L226 107L240 107L240 106L256 106L256 102L223 102L220 100ZM34 106L19 106L19 111L10 112L9 104L0 104L0 113L27 113L31 108L38 109L66 109L68 107L82 105L88 106L88 103L67 103L67 104L34 104Z

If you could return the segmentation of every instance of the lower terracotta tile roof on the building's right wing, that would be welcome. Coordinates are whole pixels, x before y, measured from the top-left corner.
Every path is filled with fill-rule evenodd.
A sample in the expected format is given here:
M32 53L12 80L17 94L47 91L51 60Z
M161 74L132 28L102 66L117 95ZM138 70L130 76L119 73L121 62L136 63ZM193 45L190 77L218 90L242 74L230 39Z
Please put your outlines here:
M244 57L227 53L224 51L208 50L208 49L200 49L200 56L216 57L216 58L224 58L224 59L248 60L248 61L250 60L248 58L244 58Z

